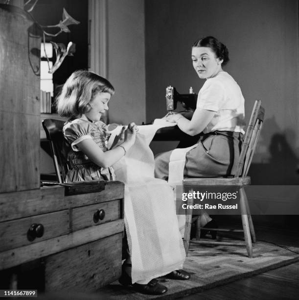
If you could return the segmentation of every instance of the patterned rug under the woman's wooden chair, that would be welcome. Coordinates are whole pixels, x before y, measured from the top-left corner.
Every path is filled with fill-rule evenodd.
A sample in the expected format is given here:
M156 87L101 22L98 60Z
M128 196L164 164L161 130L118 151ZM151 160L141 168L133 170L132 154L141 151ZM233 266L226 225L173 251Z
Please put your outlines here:
M229 239L222 238L222 241L229 241ZM289 249L299 253L296 247L289 247ZM107 298L115 300L179 298L299 261L299 254L290 250L258 241L253 247L253 257L249 258L245 246L192 244L184 264L184 269L191 274L190 280L159 278L159 281L168 288L165 295L143 295L122 287L118 282L102 288L100 292Z

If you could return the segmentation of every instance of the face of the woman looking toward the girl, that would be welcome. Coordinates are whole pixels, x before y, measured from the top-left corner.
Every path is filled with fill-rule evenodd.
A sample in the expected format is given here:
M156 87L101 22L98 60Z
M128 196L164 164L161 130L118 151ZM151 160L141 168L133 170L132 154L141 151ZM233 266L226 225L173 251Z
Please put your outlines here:
M193 47L192 62L199 78L211 78L222 71L223 59L216 57L214 51L209 47Z

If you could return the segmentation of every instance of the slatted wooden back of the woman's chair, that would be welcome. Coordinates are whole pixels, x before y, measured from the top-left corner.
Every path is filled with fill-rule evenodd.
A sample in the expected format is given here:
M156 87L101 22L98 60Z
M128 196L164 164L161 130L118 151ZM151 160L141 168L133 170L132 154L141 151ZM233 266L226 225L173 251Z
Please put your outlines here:
M261 106L261 103L261 100L254 102L239 157L238 169L234 177L244 178L248 173L265 116L265 109Z

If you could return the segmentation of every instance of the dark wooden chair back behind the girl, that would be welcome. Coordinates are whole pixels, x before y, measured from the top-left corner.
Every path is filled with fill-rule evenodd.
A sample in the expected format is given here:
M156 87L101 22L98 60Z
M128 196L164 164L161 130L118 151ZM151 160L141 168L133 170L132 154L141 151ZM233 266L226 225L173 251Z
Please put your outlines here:
M59 183L64 182L69 170L67 161L63 155L64 137L62 128L64 124L65 121L55 119L45 119L42 122L46 138L50 142L56 177Z

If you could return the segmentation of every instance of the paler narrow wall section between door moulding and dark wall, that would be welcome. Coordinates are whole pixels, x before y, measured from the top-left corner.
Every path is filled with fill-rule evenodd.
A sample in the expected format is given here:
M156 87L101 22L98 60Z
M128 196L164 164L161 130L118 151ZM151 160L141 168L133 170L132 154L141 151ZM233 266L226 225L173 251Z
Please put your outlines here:
M144 1L108 0L108 78L115 87L110 123L145 122Z

